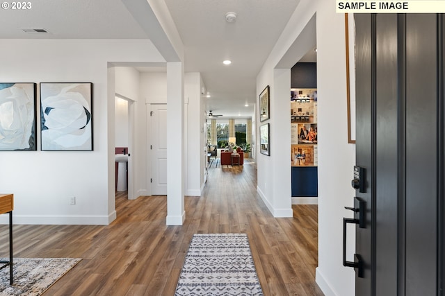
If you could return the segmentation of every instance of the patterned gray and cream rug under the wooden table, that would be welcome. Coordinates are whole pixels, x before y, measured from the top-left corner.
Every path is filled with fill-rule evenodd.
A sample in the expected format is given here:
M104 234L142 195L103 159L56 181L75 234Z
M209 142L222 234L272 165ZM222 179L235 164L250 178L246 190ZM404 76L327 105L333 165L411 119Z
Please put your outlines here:
M9 266L0 270L0 295L42 295L79 261L77 258L14 258L12 286Z

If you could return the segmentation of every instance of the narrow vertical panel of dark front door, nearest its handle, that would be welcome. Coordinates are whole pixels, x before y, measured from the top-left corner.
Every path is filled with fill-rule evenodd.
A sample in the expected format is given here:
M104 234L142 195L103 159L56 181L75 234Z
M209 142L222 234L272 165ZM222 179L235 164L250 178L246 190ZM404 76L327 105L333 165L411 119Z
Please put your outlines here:
M397 22L375 21L375 295L397 295Z

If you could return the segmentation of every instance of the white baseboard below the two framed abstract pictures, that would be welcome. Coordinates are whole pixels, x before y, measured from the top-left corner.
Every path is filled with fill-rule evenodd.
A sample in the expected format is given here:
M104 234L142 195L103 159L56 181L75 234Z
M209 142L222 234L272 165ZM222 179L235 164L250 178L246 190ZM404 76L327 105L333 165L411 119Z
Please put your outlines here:
M14 225L108 225L116 218L116 211L108 216L32 216L14 215ZM9 224L9 215L0 216L0 224Z

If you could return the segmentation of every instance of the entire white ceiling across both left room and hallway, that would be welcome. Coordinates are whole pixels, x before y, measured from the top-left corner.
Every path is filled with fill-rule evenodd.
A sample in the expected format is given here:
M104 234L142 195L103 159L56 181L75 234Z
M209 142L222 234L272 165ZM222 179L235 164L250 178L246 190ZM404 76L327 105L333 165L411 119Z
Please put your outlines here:
M165 0L184 44L185 71L200 72L211 94L205 99L207 112L253 115L257 74L298 2ZM30 10L0 10L0 39L147 38L121 0L38 0L31 4ZM227 12L236 12L234 23L225 20ZM30 34L20 28L44 28L50 33ZM226 59L232 64L225 66Z

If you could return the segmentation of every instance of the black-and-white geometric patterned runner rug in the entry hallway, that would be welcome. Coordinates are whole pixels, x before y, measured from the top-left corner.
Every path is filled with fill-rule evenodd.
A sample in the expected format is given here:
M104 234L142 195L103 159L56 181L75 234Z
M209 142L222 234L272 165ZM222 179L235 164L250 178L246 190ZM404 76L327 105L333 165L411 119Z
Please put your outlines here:
M175 296L263 295L247 234L194 234Z

